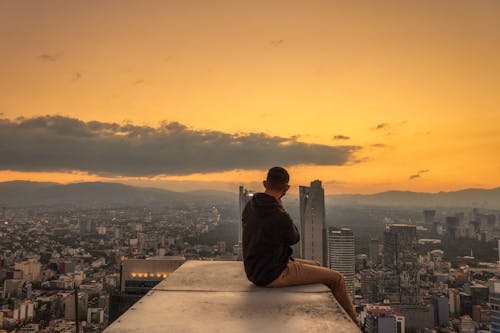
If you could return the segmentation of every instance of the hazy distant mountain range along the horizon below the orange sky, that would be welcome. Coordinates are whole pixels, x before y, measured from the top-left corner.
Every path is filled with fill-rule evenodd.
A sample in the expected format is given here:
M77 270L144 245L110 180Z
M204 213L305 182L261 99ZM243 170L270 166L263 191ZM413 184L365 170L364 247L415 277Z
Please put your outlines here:
M423 193L388 191L377 194L327 195L327 205L386 207L478 207L500 209L500 187L465 189L454 192ZM294 195L287 201L296 202ZM2 206L177 206L190 203L234 204L234 193L217 190L175 192L135 187L119 183L86 182L73 184L29 181L0 182Z

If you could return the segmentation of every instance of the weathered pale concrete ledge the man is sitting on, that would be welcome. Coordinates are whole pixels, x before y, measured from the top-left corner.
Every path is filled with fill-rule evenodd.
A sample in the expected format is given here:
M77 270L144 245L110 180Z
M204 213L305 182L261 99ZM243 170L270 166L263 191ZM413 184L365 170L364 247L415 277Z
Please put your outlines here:
M323 285L260 288L241 262L188 261L105 333L360 332Z

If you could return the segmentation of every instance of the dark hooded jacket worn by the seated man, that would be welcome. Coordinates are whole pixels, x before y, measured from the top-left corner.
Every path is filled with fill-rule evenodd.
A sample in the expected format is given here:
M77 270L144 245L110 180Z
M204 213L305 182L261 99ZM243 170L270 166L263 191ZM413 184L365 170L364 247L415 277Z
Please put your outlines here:
M242 223L245 272L254 284L266 286L285 269L299 232L276 198L266 193L253 195L243 209Z

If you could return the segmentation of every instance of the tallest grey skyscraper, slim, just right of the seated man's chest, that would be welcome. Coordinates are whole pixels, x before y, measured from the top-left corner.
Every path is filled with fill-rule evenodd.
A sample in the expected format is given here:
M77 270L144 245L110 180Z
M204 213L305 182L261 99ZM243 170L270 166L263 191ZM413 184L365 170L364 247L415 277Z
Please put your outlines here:
M299 186L299 198L301 257L326 266L325 191L321 181L312 181L309 187Z

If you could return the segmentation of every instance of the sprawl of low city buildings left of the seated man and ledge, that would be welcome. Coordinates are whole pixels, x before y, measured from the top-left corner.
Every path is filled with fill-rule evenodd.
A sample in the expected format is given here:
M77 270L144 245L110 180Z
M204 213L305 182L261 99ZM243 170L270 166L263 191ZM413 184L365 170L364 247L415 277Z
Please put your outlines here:
M177 268L187 259L227 254L224 241L197 242L220 228L216 207L156 212L4 208L2 215L1 332L74 332L75 290L82 331L101 332L145 293L120 288L127 260L161 263L154 259L164 257ZM168 265L160 265L163 270L154 276L140 269L132 275L141 285L150 281L147 290L174 269Z

